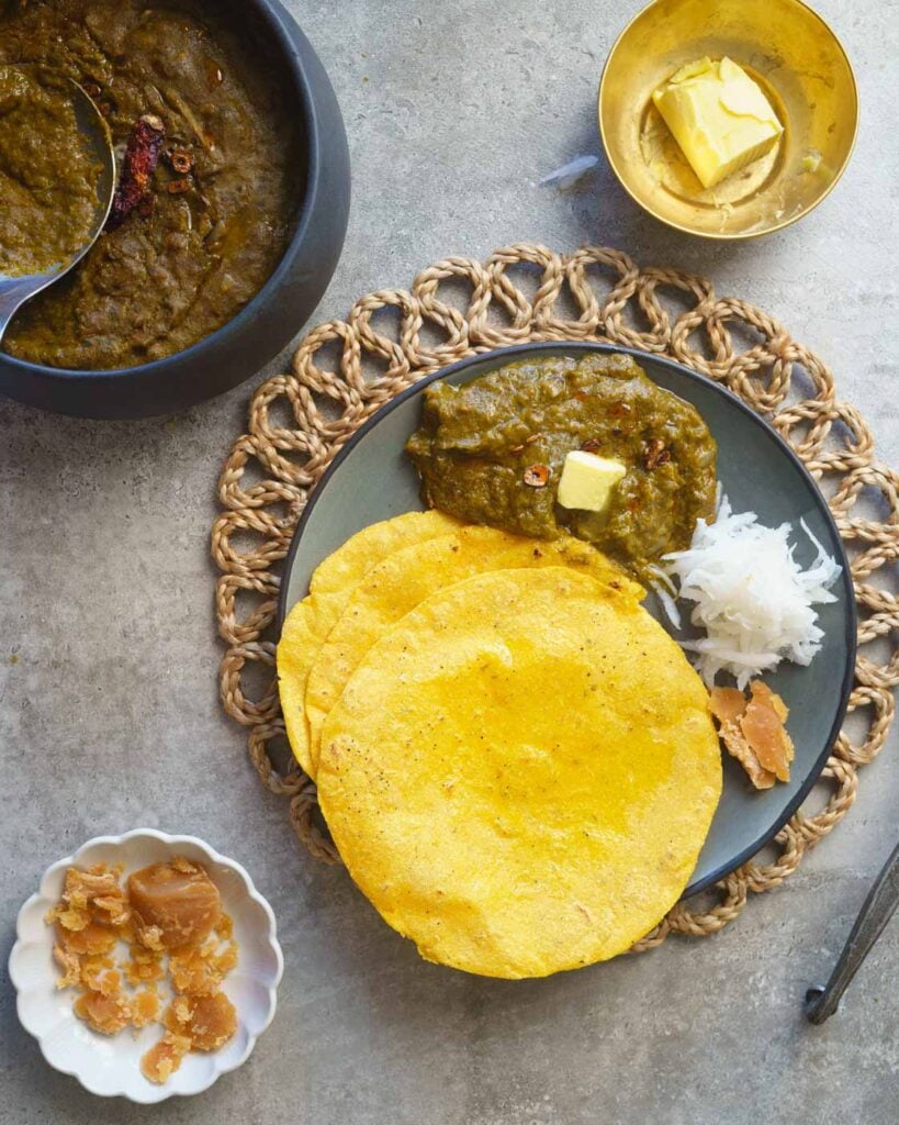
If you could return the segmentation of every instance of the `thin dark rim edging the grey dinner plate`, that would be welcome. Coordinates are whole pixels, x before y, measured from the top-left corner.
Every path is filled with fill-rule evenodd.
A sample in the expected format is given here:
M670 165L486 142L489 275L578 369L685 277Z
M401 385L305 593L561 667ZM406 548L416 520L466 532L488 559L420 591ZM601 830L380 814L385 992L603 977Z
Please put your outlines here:
M659 363L663 367L669 368L674 371L678 376L685 379L693 380L696 382L702 384L705 387L710 388L716 394L725 398L732 406L741 411L746 417L751 418L752 422L757 425L765 434L765 436L773 443L775 449L784 457L787 457L799 471L799 474L805 477L806 483L809 485L809 493L815 498L821 515L825 521L830 525L833 532L834 542L838 546L839 558L837 562L842 566L843 570L841 574L841 583L843 584L846 593L846 622L845 622L845 644L846 644L846 669L843 677L843 684L841 687L839 705L836 710L833 726L830 731L825 739L824 747L821 748L818 757L816 758L811 770L809 771L807 777L802 782L799 790L793 794L787 806L781 810L774 820L774 824L765 832L763 832L757 839L752 844L743 847L732 860L721 864L719 867L709 872L702 879L697 880L694 883L690 883L687 890L683 892L683 898L690 898L692 894L698 894L700 891L706 890L708 886L714 885L719 880L729 875L737 867L746 863L756 855L766 844L769 844L783 828L787 821L792 817L796 810L801 806L802 801L811 792L815 782L820 776L821 771L830 755L830 748L833 747L836 738L843 727L843 720L846 717L846 709L848 706L850 693L852 692L852 684L855 675L855 654L857 647L857 609L855 604L855 592L852 584L852 570L850 567L850 561L846 556L846 551L843 544L843 539L839 534L839 529L834 520L833 512L830 511L827 501L825 500L817 482L808 471L803 465L800 457L797 456L796 451L788 446L788 443L780 436L773 426L769 425L764 418L756 414L751 406L747 406L742 398L738 398L733 392L728 390L721 384L716 382L714 379L709 379L707 376L701 375L699 371L693 371L689 367L684 367L683 363L678 363L675 360L669 359L666 356L657 356L653 352L639 351L636 348L627 348L623 344L608 344L585 340L545 340L545 341L532 341L523 344L511 344L508 348L497 348L490 349L488 351L475 352L473 356L469 356L465 359L457 360L455 363L451 363L448 367L439 368L433 371L430 375L424 376L417 382L407 387L406 390L400 392L390 402L384 403L384 405L373 414L367 422L363 423L355 431L355 433L349 438L346 443L336 453L334 460L330 462L328 468L321 476L321 479L315 485L309 500L306 503L302 515L297 523L297 529L293 532L293 538L290 543L290 549L288 550L287 557L284 559L284 567L281 576L281 590L278 597L278 633L280 636L281 628L284 623L284 618L288 613L288 576L293 568L293 560L299 549L300 540L302 539L306 525L316 507L316 505L321 501L327 489L328 480L334 475L334 472L339 468L342 462L352 453L356 444L362 441L365 434L370 433L388 414L394 411L401 403L409 398L414 398L416 395L420 395L421 392L429 384L434 382L436 379L445 379L451 375L455 375L457 371L463 371L465 368L471 367L473 363L482 363L484 361L492 361L493 359L500 359L503 362L511 362L515 359L526 357L534 352L539 351L551 351L564 349L565 351L575 352L605 352L607 354L625 354L633 356L634 359L639 363L642 360L650 360L653 363Z

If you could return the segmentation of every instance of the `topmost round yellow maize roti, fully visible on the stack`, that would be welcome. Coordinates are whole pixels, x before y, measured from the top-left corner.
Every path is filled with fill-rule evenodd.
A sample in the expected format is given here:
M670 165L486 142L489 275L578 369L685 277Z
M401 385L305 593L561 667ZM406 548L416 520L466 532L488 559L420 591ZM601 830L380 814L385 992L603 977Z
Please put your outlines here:
M708 695L632 597L562 567L421 602L323 730L349 873L429 961L543 976L627 950L676 902L721 788Z

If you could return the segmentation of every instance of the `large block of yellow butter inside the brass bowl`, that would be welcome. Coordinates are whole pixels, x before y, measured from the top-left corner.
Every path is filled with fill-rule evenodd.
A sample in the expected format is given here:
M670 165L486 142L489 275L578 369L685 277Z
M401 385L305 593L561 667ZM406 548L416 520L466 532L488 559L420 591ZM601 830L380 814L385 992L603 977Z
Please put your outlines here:
M727 57L681 66L653 101L703 188L763 156L783 133L759 83Z

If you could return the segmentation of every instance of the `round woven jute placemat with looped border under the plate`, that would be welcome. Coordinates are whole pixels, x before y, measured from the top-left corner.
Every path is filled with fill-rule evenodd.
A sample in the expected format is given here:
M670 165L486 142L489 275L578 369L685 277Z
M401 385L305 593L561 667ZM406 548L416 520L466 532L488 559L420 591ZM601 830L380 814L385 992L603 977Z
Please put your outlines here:
M627 254L582 246L560 254L515 244L485 262L447 258L409 290L362 297L345 321L309 332L291 370L253 395L246 433L219 479L212 557L221 572L216 615L227 646L221 702L247 730L262 783L282 794L299 839L339 862L317 816L314 783L285 749L274 677L273 623L280 565L310 490L340 446L409 384L478 352L524 341L598 340L669 356L724 382L763 415L821 485L852 559L859 657L851 716L823 774L824 807L798 812L778 834L777 856L744 864L712 901L679 903L637 946L669 934L714 934L750 892L778 886L855 801L859 771L883 747L895 713L899 600L886 573L899 558L899 475L878 464L857 410L839 400L827 364L773 317L705 278L641 268ZM260 670L267 681L255 696Z

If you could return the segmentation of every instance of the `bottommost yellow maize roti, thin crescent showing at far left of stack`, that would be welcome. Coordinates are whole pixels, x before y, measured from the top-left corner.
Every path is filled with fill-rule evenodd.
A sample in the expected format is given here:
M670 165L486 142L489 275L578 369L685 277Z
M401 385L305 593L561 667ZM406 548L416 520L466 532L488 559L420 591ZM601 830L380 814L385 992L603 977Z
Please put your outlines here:
M309 582L308 597L288 614L278 644L278 691L291 748L307 773L311 760L303 717L306 681L353 590L391 551L457 526L457 520L442 512L407 512L364 528L321 562Z

